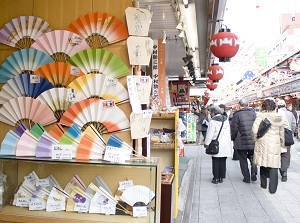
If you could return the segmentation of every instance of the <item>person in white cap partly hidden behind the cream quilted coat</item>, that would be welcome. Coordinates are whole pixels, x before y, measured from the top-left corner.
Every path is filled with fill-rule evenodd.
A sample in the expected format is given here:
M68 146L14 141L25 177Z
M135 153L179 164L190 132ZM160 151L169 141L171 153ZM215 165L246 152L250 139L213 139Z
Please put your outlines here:
M279 100L277 102L278 113L288 121L288 129L292 130L293 135L296 131L296 119L292 112L286 109L286 104L284 100ZM284 146L281 151L281 168L279 169L281 174L281 181L287 181L287 169L291 163L291 146Z

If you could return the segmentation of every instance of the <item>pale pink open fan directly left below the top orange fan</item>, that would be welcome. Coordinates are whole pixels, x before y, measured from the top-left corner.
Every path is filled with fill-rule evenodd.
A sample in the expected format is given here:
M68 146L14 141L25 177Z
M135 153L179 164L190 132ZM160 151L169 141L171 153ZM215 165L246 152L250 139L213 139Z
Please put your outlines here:
M65 62L74 54L90 47L80 35L67 30L54 30L36 39L31 48L43 51L55 61Z

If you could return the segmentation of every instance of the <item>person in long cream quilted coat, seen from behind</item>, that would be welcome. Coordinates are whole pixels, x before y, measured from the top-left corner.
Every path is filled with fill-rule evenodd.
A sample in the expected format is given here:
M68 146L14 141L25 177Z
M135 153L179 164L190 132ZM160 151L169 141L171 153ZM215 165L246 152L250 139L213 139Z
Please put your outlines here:
M262 120L267 118L271 127L266 134L257 138L257 132ZM262 103L262 111L257 113L252 127L254 146L254 164L260 166L260 186L267 188L267 174L269 180L269 191L274 194L278 185L278 169L281 167L281 148L284 146L284 128L288 124L282 115L276 112L276 103L273 98L265 99Z

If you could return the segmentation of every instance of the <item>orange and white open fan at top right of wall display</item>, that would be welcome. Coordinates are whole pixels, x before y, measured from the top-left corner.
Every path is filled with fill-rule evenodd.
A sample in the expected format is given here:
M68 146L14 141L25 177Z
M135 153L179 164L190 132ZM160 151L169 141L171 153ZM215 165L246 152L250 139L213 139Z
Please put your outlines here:
M68 30L83 36L91 48L102 48L128 37L124 23L115 16L102 12L79 17L70 24Z

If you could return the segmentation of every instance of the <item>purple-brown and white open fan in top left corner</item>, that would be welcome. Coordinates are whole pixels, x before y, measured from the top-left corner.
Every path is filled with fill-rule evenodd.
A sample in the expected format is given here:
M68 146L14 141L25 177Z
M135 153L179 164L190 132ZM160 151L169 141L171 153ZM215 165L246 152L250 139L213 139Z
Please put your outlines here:
M20 16L0 30L0 42L19 49L29 48L34 41L51 31L48 22L35 16Z

